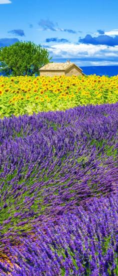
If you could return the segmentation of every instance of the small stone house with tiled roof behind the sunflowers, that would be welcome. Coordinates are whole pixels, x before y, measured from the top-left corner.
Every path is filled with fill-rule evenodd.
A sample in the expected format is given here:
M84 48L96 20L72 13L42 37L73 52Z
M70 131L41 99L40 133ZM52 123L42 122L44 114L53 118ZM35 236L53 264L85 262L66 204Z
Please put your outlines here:
M40 76L83 76L82 69L74 63L67 60L66 62L49 62L39 68Z

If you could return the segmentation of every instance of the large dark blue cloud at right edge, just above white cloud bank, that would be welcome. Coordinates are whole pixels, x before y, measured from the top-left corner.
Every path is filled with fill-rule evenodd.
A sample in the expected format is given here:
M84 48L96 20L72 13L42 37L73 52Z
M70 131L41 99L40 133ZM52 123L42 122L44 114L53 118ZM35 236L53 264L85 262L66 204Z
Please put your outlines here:
M115 46L118 45L118 35L115 37L111 37L108 35L99 35L97 37L92 37L87 34L84 38L79 38L80 43L92 44L92 45L107 45L107 46Z

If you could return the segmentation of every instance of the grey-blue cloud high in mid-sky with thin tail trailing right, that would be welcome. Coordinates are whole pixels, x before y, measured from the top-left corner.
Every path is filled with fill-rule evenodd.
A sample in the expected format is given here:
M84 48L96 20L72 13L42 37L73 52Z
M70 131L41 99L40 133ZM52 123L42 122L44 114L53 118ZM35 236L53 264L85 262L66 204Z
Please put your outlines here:
M43 31L53 31L53 32L67 32L67 33L71 33L71 34L75 34L77 33L74 30L71 29L62 29L62 28L58 28L57 23L53 23L52 21L46 19L40 19L40 21L38 22L39 27L41 27L41 29L39 30L43 30ZM80 32L80 31L78 31Z

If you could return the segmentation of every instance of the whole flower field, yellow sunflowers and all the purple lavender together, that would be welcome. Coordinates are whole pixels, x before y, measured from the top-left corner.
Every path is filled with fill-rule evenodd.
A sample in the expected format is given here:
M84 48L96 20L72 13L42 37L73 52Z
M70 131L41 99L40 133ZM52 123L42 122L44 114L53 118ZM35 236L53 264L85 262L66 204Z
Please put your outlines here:
M0 77L0 275L118 274L117 91Z

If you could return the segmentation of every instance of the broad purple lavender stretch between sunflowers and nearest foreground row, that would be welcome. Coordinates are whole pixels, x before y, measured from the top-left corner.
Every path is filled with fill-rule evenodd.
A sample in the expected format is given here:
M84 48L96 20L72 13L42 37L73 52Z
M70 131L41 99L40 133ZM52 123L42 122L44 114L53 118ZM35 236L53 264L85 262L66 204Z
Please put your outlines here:
M0 120L0 246L117 190L118 104Z

